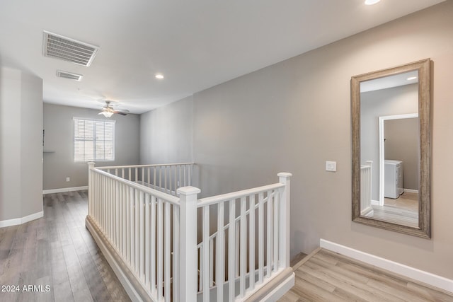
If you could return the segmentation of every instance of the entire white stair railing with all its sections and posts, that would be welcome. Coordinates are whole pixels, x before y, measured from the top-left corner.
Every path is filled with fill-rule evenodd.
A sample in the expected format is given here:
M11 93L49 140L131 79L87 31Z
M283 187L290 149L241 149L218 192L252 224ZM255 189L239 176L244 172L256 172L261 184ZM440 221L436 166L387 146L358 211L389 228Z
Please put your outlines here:
M169 165L176 168L168 175L174 180L190 170L190 183L192 165ZM199 189L176 181L164 190L142 185L150 180L147 168L89 163L86 226L109 263L120 263L120 280L134 300L197 301L201 288L203 301L213 289L214 301L243 301L289 267L290 173L279 173L273 185L197 200Z

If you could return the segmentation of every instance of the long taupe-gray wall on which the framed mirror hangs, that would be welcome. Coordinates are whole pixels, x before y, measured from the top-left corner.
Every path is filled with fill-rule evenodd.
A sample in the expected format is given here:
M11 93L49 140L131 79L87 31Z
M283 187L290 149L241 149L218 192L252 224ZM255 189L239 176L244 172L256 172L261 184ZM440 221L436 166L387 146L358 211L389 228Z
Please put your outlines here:
M452 19L453 1L445 1L196 93L193 158L201 195L276 182L277 172L288 171L292 255L311 252L323 238L453 279ZM350 78L428 57L431 240L351 221ZM337 161L337 172L326 172L325 161Z

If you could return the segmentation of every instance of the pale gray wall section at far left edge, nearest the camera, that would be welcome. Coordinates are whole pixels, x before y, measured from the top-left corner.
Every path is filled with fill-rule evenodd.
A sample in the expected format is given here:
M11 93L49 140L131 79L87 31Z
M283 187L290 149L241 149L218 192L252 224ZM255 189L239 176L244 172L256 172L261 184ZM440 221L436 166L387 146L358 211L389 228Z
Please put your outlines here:
M0 69L0 221L42 211L42 79Z

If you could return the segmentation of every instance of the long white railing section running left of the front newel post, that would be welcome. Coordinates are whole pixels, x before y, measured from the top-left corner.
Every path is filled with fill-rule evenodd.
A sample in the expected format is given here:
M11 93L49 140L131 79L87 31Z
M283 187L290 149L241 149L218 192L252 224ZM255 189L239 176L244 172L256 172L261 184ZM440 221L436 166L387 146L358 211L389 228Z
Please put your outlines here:
M89 165L87 220L150 298L171 301L179 289L171 281L180 275L180 199Z

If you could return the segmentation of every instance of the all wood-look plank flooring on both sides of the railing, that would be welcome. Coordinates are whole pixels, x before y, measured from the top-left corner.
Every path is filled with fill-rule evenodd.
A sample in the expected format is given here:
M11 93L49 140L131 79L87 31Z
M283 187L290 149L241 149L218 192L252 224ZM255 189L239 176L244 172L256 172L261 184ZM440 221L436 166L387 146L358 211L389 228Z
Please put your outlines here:
M1 302L130 301L85 228L86 194L46 194L42 219L0 228ZM327 250L294 269L296 285L282 302L453 301L441 291ZM1 286L19 291L1 291Z

